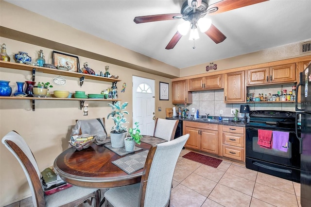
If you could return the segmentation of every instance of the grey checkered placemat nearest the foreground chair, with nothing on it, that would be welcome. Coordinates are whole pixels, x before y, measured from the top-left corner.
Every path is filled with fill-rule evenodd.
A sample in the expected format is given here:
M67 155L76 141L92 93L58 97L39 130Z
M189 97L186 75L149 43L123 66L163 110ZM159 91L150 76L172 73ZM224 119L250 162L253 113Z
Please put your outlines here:
M112 161L112 163L119 167L125 173L131 174L142 169L145 166L148 152L149 150L145 150L134 155L128 155Z

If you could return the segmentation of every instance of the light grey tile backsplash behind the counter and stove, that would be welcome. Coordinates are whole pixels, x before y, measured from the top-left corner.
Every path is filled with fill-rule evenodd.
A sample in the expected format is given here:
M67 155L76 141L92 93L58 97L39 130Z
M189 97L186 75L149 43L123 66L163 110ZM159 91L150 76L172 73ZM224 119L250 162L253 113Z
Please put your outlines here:
M292 85L283 86L252 86L248 88L249 93L255 93L257 96L259 93L263 94L277 94L278 90L286 89L292 90ZM192 104L187 104L187 108L191 111L191 108L199 109L200 115L209 114L210 116L219 116L220 110L223 110L223 117L232 117L231 108L240 111L240 106L244 104L225 104L224 103L224 89L219 90L206 90L192 92ZM246 103L248 104L248 103ZM249 103L250 110L282 110L282 111L295 111L294 103ZM185 107L184 104L177 104L177 107ZM194 115L194 113L191 113ZM243 113L239 113L239 117L243 117ZM248 114L246 114L248 116Z

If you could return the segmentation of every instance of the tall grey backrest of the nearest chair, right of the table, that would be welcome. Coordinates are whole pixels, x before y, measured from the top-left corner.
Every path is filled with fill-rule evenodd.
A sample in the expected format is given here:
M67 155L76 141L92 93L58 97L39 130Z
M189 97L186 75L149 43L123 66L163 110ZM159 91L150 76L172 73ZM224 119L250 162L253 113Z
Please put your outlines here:
M188 138L186 134L150 148L140 181L141 207L168 206L177 159Z

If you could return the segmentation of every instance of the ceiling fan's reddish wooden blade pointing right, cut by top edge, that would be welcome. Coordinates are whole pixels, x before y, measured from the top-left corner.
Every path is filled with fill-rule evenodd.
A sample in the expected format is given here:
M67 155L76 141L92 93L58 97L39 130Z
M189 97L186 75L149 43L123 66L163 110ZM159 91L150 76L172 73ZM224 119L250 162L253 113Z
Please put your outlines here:
M263 1L267 1L267 0L222 0L217 3L209 5L207 8L207 13L209 15L215 15L215 14L223 13L223 12L230 11L233 9L238 9L244 6L261 3ZM213 9L214 7L217 7L218 10ZM213 12L209 13L208 10L212 10Z

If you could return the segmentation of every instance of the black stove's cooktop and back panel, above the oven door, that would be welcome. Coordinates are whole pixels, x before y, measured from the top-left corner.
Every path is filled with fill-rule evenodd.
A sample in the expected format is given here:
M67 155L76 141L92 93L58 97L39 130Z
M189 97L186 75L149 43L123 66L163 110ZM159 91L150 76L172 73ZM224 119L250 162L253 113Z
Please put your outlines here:
M291 111L250 111L249 117L249 123L246 126L282 130L295 128L295 112Z

